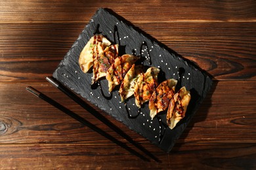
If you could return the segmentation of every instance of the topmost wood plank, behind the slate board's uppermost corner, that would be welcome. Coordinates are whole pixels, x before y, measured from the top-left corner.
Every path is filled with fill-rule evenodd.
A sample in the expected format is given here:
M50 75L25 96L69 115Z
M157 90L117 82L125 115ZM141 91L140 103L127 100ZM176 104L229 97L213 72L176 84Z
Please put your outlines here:
M112 9L127 20L141 22L255 22L256 3L249 1L9 1L0 3L0 22L84 22L100 8ZM129 10L127 9L129 8ZM157 17L152 17L152 14ZM138 17L139 16L139 17Z

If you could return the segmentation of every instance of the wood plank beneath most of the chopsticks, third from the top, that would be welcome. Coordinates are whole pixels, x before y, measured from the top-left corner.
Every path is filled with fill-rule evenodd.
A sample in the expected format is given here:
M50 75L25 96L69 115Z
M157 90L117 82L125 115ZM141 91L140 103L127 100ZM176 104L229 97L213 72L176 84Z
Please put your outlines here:
M91 129L81 126L48 103L26 92L28 85L53 97L117 139L124 140L50 84L1 83L0 143L111 144ZM178 143L255 143L255 96L255 81L215 82ZM104 116L133 139L150 144L111 116Z

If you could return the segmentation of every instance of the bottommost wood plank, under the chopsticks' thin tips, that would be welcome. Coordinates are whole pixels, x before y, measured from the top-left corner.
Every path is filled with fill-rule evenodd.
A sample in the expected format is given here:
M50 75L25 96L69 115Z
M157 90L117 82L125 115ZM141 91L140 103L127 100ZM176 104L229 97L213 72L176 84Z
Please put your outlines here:
M255 144L182 144L150 163L113 144L0 144L0 169L255 169ZM107 159L106 159L107 158ZM111 161L109 161L111 160Z

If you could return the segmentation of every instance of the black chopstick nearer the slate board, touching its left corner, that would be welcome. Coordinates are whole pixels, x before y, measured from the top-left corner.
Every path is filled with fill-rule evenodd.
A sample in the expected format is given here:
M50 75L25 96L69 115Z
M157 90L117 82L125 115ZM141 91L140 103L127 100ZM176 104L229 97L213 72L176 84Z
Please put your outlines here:
M119 129L119 127L117 127L116 125L114 125L112 122L110 122L108 119L106 119L104 116L102 116L102 114L100 114L99 112L97 112L95 109L93 109L93 107L91 107L90 105L88 105L87 103L85 103L85 101L83 101L82 99L80 99L79 97L77 97L77 95L75 95L73 92L71 92L70 90L68 90L68 88L66 88L65 86L63 86L62 84L60 84L57 80L54 80L53 78L50 78L47 76L46 80L48 82L50 82L51 84L53 84L53 86L55 86L56 88L58 88L60 91L62 91L63 93L65 93L66 95L68 95L68 97L70 97L71 99L73 99L78 105L80 105L81 107L83 107L85 110L87 110L88 112L90 112L91 114L93 114L93 116L95 116L95 118L98 118L98 120L100 120L101 122L103 122L104 124L106 124L106 126L110 127L112 130L116 131L116 133L118 133L121 137L125 138L127 141L129 141L129 143L133 144L134 146L136 146L137 148L139 148L142 152L144 152L144 154L146 154L147 156L150 156L150 158L152 158L153 160L157 161L157 162L161 162L160 160L158 160L158 158L156 158L152 153L150 153L148 150L146 150L144 147L142 147L139 143L133 141L133 139L131 139L131 137L129 137L129 135L127 135L126 133L124 133L121 129Z

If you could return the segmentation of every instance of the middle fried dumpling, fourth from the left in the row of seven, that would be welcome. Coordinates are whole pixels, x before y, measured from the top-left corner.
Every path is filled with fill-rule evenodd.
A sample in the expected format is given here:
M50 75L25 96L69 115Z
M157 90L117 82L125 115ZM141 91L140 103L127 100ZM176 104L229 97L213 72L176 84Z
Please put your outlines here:
M143 73L143 66L133 64L131 69L127 72L125 77L123 78L123 82L119 88L119 95L121 96L121 101L125 101L125 99L131 97L134 93L135 84L139 75Z

